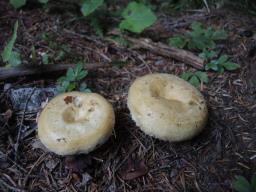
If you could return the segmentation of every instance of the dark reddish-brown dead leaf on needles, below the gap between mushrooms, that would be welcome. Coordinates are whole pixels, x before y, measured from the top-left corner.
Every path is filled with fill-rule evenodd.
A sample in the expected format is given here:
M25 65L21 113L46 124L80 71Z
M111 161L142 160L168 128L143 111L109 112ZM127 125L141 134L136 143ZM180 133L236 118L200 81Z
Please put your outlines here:
M119 175L123 180L132 180L147 174L148 168L144 160L132 159L127 160L127 163L121 168Z

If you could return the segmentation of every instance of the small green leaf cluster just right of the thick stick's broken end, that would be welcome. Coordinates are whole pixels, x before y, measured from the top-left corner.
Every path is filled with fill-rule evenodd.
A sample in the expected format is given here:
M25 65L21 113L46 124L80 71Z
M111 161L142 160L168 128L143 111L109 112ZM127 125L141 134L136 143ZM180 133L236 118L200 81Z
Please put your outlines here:
M205 70L213 70L219 73L223 73L224 70L233 71L238 69L240 66L236 63L229 61L229 57L227 55L222 55L218 59L211 60L209 63L205 65Z

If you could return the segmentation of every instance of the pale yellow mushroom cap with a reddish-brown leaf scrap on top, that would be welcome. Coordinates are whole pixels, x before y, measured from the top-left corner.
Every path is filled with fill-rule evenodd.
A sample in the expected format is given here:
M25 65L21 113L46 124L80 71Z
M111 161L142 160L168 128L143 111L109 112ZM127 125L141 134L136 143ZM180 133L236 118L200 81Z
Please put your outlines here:
M113 107L101 95L63 93L41 112L38 136L56 154L88 153L108 139L114 123Z

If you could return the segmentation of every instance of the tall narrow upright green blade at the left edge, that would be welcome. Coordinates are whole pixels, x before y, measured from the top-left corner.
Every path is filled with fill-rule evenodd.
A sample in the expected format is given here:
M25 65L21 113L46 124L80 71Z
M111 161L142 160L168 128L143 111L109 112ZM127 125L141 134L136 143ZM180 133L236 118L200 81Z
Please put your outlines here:
M18 26L19 26L19 23L18 23L18 21L16 21L16 23L14 25L14 30L13 30L12 37L9 40L9 42L7 43L7 45L4 47L4 51L1 54L4 62L9 61L9 59L12 55L12 49L13 49L14 43L15 43L16 38L17 38Z

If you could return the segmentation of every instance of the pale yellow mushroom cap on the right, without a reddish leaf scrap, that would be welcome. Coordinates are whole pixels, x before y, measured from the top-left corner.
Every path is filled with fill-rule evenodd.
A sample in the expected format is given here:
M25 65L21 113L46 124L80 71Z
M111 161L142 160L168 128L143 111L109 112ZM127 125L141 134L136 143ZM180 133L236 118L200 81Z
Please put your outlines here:
M202 94L183 79L164 73L137 78L129 88L128 108L146 134L165 141L183 141L206 125Z

